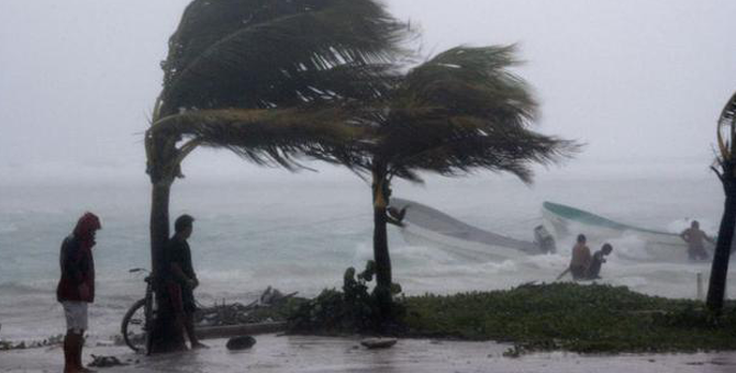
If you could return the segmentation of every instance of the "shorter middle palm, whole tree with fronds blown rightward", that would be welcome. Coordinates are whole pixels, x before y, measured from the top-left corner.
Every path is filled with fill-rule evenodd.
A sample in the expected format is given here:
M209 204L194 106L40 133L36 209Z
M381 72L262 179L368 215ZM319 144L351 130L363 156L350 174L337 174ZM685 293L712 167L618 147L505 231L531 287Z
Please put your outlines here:
M537 103L509 71L514 46L456 47L399 77L365 114L369 140L346 166L370 174L376 295L383 316L391 305L387 206L394 177L422 182L420 172L454 177L478 169L511 172L531 182L531 163L571 155L573 142L529 129ZM372 114L372 115L371 115Z

